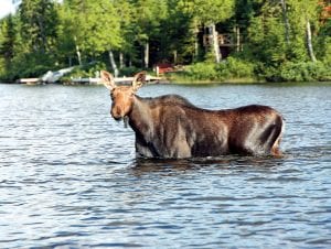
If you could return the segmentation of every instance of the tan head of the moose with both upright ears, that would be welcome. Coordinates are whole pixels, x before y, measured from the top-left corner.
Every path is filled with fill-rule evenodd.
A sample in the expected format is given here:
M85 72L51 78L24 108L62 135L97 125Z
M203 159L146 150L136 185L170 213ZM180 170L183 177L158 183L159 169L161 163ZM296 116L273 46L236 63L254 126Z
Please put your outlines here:
M115 120L121 120L131 111L134 96L146 82L146 72L136 74L131 86L117 86L114 76L106 71L102 71L100 75L102 82L110 90L110 115Z

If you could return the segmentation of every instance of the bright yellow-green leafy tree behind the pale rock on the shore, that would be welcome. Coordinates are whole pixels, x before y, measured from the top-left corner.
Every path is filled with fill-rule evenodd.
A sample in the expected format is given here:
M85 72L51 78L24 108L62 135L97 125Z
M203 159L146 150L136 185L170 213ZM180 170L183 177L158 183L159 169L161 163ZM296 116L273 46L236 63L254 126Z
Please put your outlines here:
M75 44L79 62L81 50L87 58L119 47L119 17L109 0L64 0L64 33L71 35L67 43Z

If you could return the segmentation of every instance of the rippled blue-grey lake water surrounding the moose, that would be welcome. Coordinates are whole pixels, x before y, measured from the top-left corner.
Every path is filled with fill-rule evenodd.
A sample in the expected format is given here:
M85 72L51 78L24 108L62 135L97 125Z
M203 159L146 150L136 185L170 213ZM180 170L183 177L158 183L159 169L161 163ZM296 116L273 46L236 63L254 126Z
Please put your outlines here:
M0 248L331 248L331 84L174 93L275 107L285 156L137 160L106 88L0 85Z

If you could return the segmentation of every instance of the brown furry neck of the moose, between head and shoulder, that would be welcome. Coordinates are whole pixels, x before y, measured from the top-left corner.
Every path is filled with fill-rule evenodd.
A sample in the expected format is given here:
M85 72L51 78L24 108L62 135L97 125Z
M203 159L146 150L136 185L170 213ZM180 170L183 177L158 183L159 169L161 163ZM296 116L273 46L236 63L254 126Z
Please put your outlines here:
M152 109L147 99L134 96L132 108L128 117L129 124L136 133L145 138L152 136Z

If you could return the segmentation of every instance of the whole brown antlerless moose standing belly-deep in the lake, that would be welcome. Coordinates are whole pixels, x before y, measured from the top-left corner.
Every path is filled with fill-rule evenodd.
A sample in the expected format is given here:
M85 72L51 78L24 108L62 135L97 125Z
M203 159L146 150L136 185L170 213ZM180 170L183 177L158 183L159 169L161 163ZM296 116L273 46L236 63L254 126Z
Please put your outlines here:
M100 75L110 90L111 117L127 120L135 131L138 156L281 155L284 119L271 107L209 110L179 95L142 98L136 93L146 82L146 72L136 74L131 86L117 86L106 71Z

